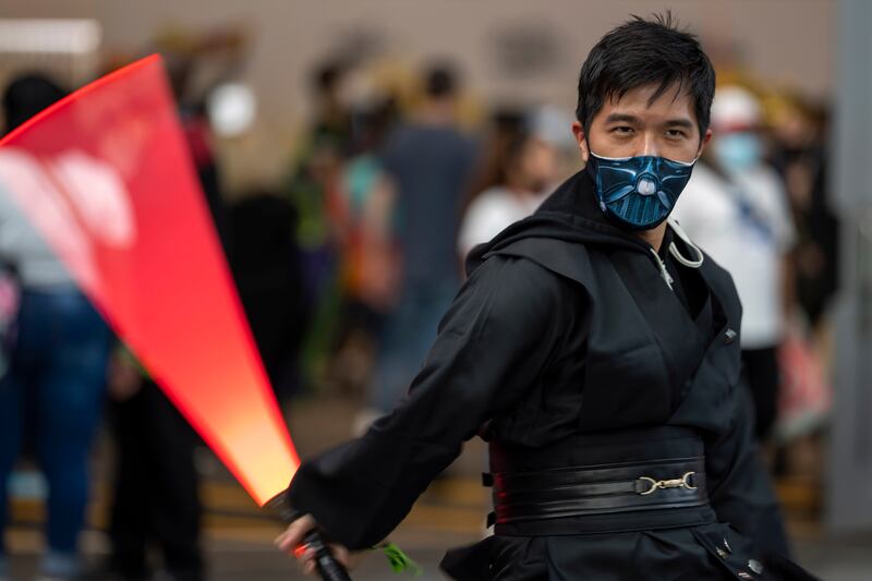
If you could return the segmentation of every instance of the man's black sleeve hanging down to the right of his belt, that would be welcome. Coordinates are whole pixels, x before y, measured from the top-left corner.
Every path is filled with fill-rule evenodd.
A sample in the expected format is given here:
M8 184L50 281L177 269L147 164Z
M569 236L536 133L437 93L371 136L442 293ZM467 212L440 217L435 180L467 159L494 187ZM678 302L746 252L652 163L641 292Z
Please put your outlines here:
M762 550L787 557L787 535L768 472L760 461L747 386L734 387L730 407L730 431L705 447L712 507L720 522L731 524Z

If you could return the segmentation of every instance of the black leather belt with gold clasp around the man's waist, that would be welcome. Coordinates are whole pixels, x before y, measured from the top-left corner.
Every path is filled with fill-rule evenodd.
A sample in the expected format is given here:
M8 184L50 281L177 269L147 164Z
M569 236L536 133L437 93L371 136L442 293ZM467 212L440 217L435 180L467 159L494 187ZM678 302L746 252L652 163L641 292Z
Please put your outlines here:
M496 524L707 505L702 457L493 474Z

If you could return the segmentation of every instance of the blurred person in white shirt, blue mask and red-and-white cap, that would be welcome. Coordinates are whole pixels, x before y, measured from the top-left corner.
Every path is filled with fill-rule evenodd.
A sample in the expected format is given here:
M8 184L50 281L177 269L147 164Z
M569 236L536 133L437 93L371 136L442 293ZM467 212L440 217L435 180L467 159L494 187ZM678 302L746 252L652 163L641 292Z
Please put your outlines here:
M700 247L732 276L742 301L742 363L753 396L756 437L777 415L777 348L790 306L794 225L784 183L764 161L759 100L738 86L718 88L712 105L716 137L698 164L675 216Z

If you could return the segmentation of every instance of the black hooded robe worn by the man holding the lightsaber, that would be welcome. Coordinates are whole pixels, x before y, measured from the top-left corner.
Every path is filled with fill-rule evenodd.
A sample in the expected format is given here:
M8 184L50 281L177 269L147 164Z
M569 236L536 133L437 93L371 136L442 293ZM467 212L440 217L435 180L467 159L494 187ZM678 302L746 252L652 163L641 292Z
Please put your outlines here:
M610 447L611 434L676 426L702 437L706 510L717 522L578 535L497 528L449 553L444 568L457 579L742 579L750 559L786 554L739 388L736 290L707 256L698 269L677 264L665 252L673 240L693 254L667 232L661 256L675 290L652 247L611 225L588 174L576 174L533 216L471 253L469 279L408 397L362 438L304 462L291 506L330 538L368 547L476 434L492 449L532 452L542 465L525 468L535 470L588 465L591 458L555 452L571 438L601 438L595 453L621 461L628 446ZM629 449L644 457L668 446L640 440ZM726 557L717 552L724 541ZM778 579L773 571L747 574Z

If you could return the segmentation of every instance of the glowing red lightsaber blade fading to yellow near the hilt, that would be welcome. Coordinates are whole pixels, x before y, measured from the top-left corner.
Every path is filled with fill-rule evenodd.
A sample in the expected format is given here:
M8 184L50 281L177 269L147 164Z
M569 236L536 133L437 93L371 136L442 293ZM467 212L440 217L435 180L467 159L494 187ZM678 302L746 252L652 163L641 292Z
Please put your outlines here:
M254 500L277 497L300 460L160 58L87 85L7 135L0 190ZM348 579L326 566L340 577L325 579Z

